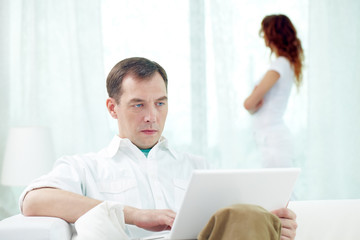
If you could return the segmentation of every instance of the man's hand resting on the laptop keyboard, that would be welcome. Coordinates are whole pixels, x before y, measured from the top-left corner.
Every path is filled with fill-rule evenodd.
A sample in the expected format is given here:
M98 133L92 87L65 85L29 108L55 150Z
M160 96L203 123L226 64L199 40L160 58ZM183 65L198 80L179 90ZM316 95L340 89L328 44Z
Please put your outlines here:
M170 209L142 210L124 207L125 223L133 224L149 231L170 230L176 213Z

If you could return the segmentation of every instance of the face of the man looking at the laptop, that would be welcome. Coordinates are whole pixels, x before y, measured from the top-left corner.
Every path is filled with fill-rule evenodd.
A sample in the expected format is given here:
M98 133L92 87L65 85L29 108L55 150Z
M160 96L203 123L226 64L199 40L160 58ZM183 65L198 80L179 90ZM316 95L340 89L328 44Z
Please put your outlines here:
M141 149L153 147L161 137L168 112L166 86L159 73L150 79L125 77L119 104L114 104L119 136Z

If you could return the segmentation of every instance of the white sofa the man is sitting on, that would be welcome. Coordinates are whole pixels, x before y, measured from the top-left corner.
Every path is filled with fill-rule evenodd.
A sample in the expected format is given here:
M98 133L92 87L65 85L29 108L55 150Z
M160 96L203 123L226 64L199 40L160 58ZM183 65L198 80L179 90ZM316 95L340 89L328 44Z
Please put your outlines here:
M360 239L360 199L292 201L296 240ZM59 218L16 215L0 221L1 240L68 240L74 229Z

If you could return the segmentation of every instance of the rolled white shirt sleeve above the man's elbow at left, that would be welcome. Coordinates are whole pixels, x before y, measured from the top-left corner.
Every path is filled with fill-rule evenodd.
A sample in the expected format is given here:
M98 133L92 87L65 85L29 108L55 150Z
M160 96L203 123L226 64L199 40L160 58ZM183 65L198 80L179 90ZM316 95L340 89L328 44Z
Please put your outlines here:
M20 195L19 207L21 212L26 194L37 188L58 188L83 195L82 168L79 166L79 161L80 159L76 157L62 157L55 162L55 166L50 173L32 181Z

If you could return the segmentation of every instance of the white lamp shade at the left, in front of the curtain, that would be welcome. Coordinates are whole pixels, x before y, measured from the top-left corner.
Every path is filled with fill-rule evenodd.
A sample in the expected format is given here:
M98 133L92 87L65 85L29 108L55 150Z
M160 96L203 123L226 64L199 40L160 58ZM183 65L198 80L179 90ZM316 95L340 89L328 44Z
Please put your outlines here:
M11 128L5 148L1 183L26 186L51 170L54 157L50 129Z

